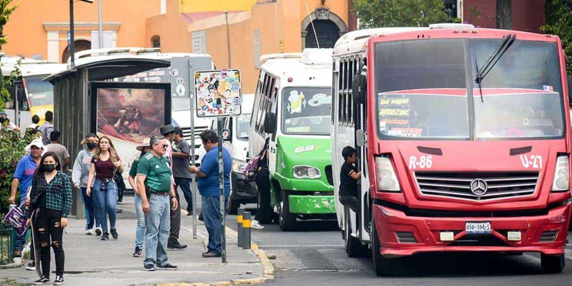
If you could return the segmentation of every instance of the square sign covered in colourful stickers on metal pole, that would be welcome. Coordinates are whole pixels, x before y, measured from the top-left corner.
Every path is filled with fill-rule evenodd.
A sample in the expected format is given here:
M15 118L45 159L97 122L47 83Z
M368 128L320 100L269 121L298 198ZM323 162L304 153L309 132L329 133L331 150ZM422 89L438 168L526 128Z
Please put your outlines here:
M240 71L208 70L194 73L198 117L225 117L241 114L243 93Z

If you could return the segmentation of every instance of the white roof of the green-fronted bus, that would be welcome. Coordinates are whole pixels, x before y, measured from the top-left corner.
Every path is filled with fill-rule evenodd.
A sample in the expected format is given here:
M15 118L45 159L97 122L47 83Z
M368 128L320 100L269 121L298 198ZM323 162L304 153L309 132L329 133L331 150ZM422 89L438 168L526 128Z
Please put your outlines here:
M281 78L282 87L332 85L332 49L304 49L302 53L263 55L262 59L260 69Z

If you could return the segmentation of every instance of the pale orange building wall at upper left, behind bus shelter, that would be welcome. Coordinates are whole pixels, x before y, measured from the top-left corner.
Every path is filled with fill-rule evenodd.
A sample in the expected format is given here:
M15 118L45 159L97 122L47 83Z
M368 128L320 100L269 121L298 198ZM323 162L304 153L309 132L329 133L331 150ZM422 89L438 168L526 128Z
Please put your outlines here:
M74 3L75 22L97 22L97 1ZM160 13L160 0L102 0L104 22L121 22L117 31L117 46L149 46L146 35L146 18ZM10 17L5 27L8 43L2 47L6 54L42 54L47 59L47 32L44 22L69 23L69 1L67 0L21 0L18 9ZM67 30L59 33L59 55L67 46ZM77 37L91 38L90 31L81 32L76 28Z

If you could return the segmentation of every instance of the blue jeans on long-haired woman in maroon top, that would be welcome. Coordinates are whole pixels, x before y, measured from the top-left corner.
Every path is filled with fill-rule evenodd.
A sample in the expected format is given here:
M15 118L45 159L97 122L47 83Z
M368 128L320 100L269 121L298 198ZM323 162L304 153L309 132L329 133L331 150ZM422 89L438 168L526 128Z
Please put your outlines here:
M102 189L104 185L105 188ZM107 217L109 216L111 228L115 228L115 220L117 218L117 185L113 179L103 180L96 178L93 184L93 193L97 200L98 217L100 219L101 228L104 232L109 233Z

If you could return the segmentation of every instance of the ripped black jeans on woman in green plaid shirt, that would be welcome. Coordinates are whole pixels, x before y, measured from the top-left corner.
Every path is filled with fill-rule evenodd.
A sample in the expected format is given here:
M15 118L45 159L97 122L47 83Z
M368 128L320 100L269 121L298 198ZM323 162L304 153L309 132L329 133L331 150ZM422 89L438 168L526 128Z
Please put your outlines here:
M54 249L55 275L63 276L63 255L61 225L62 212L60 210L39 208L35 226L39 234L40 260L42 261L43 276L50 277L50 245ZM39 266L39 265L37 265Z

